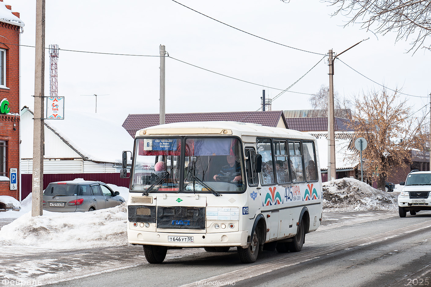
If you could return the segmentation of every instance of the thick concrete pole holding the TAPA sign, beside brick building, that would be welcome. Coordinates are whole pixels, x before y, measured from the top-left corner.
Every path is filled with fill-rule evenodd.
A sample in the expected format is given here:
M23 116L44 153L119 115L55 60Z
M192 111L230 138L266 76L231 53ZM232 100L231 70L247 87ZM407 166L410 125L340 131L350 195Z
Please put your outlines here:
M36 1L34 66L33 182L31 216L42 215L44 191L45 0Z

